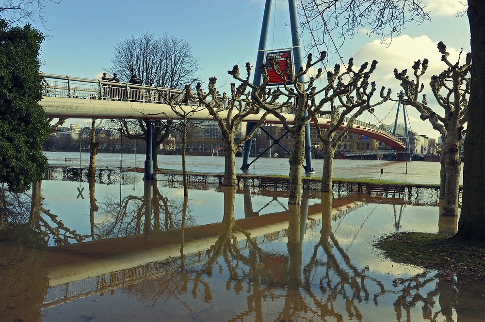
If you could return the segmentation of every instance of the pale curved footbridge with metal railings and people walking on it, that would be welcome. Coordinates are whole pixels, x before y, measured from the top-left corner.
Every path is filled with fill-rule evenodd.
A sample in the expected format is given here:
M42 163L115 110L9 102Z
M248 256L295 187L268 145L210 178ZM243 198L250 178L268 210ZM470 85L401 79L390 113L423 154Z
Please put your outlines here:
M180 90L53 74L41 74L41 77L44 97L40 104L48 118L178 119L167 104L170 100L179 103L179 111L194 111L189 117L191 120L213 120L205 108L190 103L185 92ZM224 100L222 96L220 99ZM249 115L244 121L258 122L262 114ZM220 115L224 116L224 112ZM293 114L283 115L288 123L292 122ZM280 121L268 115L266 123ZM329 123L329 119L319 118L321 127L328 127ZM342 128L345 124L342 123ZM397 151L406 150L403 141L372 124L355 121L350 132L377 139Z

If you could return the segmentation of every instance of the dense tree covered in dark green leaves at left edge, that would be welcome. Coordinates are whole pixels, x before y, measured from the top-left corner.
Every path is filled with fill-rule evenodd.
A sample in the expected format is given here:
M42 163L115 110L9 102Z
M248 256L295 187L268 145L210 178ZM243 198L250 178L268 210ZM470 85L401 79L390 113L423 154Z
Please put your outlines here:
M42 99L39 50L44 36L30 25L0 20L0 182L23 192L48 167L42 143L50 126Z

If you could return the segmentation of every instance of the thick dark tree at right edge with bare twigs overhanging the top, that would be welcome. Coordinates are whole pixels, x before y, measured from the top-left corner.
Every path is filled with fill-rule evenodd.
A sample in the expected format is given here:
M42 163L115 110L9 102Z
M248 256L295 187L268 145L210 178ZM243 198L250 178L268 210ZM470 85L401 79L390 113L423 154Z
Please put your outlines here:
M485 240L485 1L467 0L470 26L471 57L474 62L470 68L470 100L468 135L465 138L465 159L463 168L463 203L460 224L456 236L464 239ZM392 39L402 31L409 21L429 20L428 12L418 0L305 0L305 27L339 30L341 35L354 35L360 27L367 27L370 33L380 34L382 40ZM308 17L308 19L307 19ZM331 25L327 22L330 21ZM310 27L312 22L319 27ZM316 34L316 32L313 32ZM342 38L344 39L344 38ZM315 39L321 44L321 39Z

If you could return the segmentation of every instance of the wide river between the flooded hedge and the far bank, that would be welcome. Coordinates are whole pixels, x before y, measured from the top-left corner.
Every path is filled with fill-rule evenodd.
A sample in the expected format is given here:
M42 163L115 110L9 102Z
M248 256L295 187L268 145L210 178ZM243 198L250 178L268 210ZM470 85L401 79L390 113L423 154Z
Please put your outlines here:
M87 168L89 153L76 152L45 152L51 166L72 166ZM80 160L81 155L81 162ZM119 169L143 168L145 154L98 153L96 156L97 168ZM250 159L250 162L252 159ZM158 155L159 168L182 170L181 155ZM242 157L236 157L238 172L242 166ZM312 160L315 171L308 176L322 177L323 160ZM249 174L260 175L288 175L288 158L259 158L248 169ZM382 169L382 173L381 173ZM342 160L335 159L333 177L336 179L375 179L410 184L439 184L439 162L424 161L387 161L387 160ZM224 173L224 157L222 156L187 156L187 170L203 173ZM303 169L302 169L303 171ZM460 176L460 184L462 176Z

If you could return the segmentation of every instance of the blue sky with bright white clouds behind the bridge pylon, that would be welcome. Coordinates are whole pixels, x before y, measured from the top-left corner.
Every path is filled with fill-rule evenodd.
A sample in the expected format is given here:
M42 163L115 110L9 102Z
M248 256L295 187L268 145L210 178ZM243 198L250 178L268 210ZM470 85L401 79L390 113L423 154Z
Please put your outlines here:
M353 57L357 66L375 59L379 64L371 80L378 88L383 85L391 88L396 97L400 86L394 79L394 68L410 69L414 61L428 58L429 68L423 82L429 85L431 76L445 69L436 44L443 41L450 60L456 62L461 48L465 53L470 50L469 25L466 15L457 16L459 11L466 10L460 0L423 0L423 3L431 11L431 22L407 24L390 45L382 44L379 36L367 36L365 28L361 29L353 38L346 38L338 54L329 55L327 66L341 63L339 57L345 62ZM199 79L207 81L215 76L220 92L228 92L233 79L227 71L235 64L243 68L248 61L254 66L264 4L265 0L63 0L59 4L47 3L44 23L37 18L32 25L48 36L40 56L44 73L98 78L111 67L113 48L118 42L144 32L156 36L168 33L192 46L194 56L200 59ZM290 47L288 1L273 0L270 21L267 49ZM331 36L340 41L338 34ZM309 41L310 36L304 34L302 47ZM441 114L440 107L432 101L428 95L428 103ZM376 108L375 117L365 113L359 119L391 124L396 107L388 102ZM420 120L417 111L411 107L406 110L413 131L430 138L439 136L429 123ZM71 119L65 124L88 122ZM399 122L403 122L402 116Z

